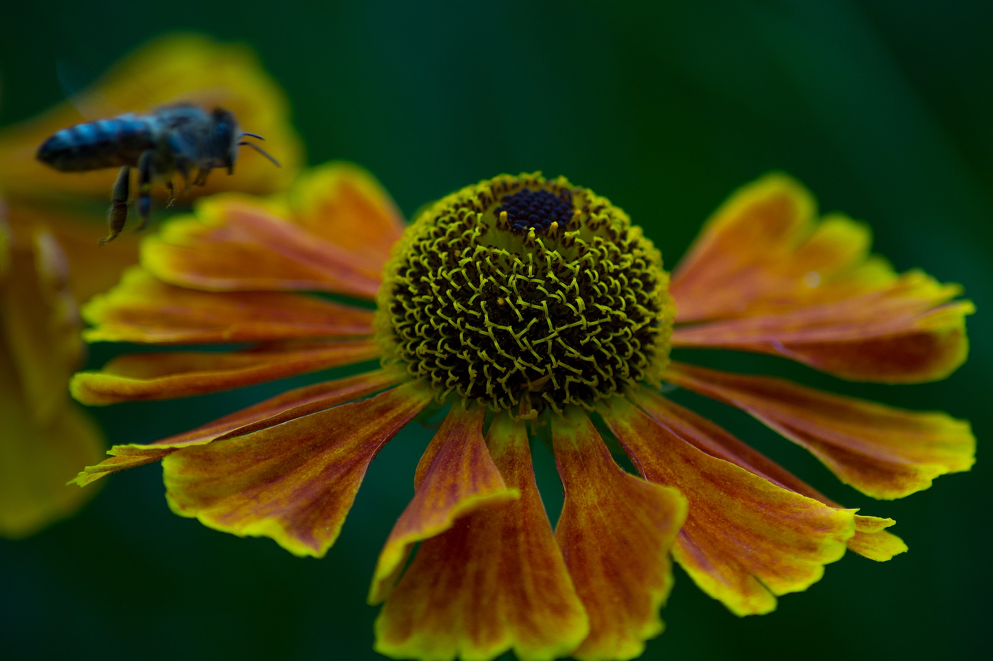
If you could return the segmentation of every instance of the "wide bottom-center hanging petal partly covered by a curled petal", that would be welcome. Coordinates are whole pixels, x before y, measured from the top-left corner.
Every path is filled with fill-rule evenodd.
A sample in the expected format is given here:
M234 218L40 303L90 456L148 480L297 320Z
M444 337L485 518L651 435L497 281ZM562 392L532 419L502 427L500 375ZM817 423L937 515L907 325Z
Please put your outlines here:
M375 649L393 658L520 661L567 656L589 622L534 481L527 430L498 415L487 437L520 499L477 510L425 540L376 619Z

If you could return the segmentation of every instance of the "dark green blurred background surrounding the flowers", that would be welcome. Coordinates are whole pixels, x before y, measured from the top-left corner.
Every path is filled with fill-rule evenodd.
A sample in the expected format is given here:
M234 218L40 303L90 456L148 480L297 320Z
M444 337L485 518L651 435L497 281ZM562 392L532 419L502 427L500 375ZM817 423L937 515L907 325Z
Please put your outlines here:
M0 10L0 123L60 100L176 29L257 49L293 101L311 163L354 160L406 213L498 173L566 175L625 207L672 265L734 188L773 169L824 210L868 220L898 269L961 282L980 312L969 362L921 386L849 384L773 358L683 358L792 376L990 428L993 354L993 3L18 2ZM106 347L95 347L93 361ZM298 379L296 382L313 378ZM112 442L188 429L286 384L95 411ZM646 659L967 658L988 643L988 463L877 502L743 414L683 393L863 513L893 516L909 554L849 554L780 609L738 618L678 569ZM169 513L160 469L106 480L74 519L0 543L0 656L332 658L371 651L364 604L379 545L428 439L408 429L372 463L322 561ZM535 450L554 517L550 457Z

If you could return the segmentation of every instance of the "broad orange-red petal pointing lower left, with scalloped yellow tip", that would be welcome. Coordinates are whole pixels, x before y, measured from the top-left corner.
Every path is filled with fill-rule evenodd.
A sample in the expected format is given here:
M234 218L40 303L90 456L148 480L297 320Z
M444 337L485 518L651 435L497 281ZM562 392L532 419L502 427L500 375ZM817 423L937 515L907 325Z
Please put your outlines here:
M413 384L166 457L174 512L297 556L335 543L369 462L430 401Z

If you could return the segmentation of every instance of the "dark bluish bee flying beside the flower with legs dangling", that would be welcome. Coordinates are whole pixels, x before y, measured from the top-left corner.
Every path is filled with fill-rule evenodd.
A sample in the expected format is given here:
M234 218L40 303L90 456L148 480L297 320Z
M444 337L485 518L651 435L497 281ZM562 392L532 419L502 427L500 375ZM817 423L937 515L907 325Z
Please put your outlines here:
M152 208L152 185L162 182L169 192L166 204L176 199L173 175L179 173L186 189L204 186L214 168L234 173L238 147L251 147L278 168L279 163L244 137L265 140L241 131L234 114L223 108L211 112L189 103L164 106L150 114L128 113L76 124L42 143L36 157L61 172L120 168L110 195L110 233L100 245L112 241L127 220L131 169L138 171L138 215L141 230ZM193 181L191 174L196 171ZM185 189L185 190L186 190Z

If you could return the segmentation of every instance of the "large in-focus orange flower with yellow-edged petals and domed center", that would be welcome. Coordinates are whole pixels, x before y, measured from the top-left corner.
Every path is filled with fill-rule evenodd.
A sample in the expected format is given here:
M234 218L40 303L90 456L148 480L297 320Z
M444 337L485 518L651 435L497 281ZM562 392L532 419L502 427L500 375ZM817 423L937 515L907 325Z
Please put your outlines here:
M370 358L380 368L115 446L75 481L162 460L176 513L322 557L376 453L450 401L375 568L376 650L633 658L662 630L670 557L745 615L805 590L846 548L879 561L907 550L885 530L892 519L829 500L660 395L661 381L747 411L876 497L972 464L968 424L945 414L668 359L670 346L729 347L851 379L946 376L965 358L971 305L868 249L865 227L818 219L780 175L718 210L671 285L624 211L564 179L497 177L406 229L348 164L282 197L204 199L86 307L85 336L251 348L120 356L73 377L79 401L189 396ZM375 297L377 310L305 291ZM550 442L565 488L554 532L529 436Z

